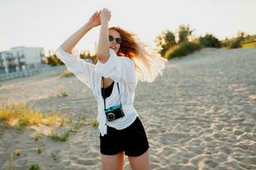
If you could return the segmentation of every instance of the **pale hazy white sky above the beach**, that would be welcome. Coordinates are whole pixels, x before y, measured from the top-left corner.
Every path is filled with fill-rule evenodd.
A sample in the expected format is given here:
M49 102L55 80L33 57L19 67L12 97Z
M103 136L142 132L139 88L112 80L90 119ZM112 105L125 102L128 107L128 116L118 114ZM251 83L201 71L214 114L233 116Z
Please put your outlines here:
M102 8L111 11L108 26L132 31L152 47L162 31L181 25L195 36L211 33L220 40L238 31L256 34L255 0L0 0L0 51L43 47L47 54ZM94 53L99 31L91 29L76 48Z

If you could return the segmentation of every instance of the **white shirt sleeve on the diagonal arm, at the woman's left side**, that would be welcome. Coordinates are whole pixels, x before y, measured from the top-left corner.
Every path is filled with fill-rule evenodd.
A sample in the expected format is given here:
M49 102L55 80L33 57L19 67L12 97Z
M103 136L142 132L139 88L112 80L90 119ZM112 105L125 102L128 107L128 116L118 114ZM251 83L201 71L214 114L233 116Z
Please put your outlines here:
M95 65L80 59L79 54L74 51L72 54L67 54L61 47L57 48L55 54L67 66L68 71L71 71L86 86L92 87Z

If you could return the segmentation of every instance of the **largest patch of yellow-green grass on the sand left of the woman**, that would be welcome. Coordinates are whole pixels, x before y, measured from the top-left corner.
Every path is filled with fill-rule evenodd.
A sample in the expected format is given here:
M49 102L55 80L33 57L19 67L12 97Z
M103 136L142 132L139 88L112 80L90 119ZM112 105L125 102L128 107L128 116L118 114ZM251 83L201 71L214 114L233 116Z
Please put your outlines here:
M81 130L84 125L91 125L92 127L97 127L98 123L96 121L84 122L85 116L73 116L68 117L63 116L56 111L52 111L51 114L43 113L41 111L34 111L32 106L26 105L24 103L12 104L12 105L0 105L0 121L7 124L9 127L26 127L26 126L58 126L64 128L63 132L52 132L48 133L47 136L50 139L56 141L67 141L70 133L76 133ZM0 124L1 125L1 124ZM62 127L67 125L67 127ZM41 133L37 133L34 136L34 140L38 141L41 139Z

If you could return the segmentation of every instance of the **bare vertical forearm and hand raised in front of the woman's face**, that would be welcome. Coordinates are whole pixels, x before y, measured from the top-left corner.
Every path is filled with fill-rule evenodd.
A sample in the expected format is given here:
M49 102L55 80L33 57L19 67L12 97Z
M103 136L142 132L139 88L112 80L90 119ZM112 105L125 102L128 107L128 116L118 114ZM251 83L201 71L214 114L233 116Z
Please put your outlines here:
M107 8L103 8L100 12L102 26L96 49L96 57L101 63L105 63L109 58L108 21L110 17L110 11Z

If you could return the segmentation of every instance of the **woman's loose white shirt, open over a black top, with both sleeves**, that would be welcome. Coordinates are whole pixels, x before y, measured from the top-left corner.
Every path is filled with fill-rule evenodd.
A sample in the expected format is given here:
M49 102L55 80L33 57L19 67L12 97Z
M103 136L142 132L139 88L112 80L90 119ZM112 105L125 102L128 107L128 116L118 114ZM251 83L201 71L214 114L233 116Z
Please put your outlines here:
M124 56L117 56L112 48L109 49L110 57L105 63L98 61L96 65L90 64L79 58L77 51L67 54L57 48L56 56L67 66L67 70L73 74L92 90L98 103L97 122L99 122L99 130L103 135L107 134L107 125L116 129L124 129L129 127L135 121L138 114L133 107L135 97L135 88L137 86L137 76L133 61ZM104 111L104 100L102 98L102 77L110 77L114 81L112 94L106 98L106 108L119 105L120 100L125 116L114 120L107 121ZM116 82L119 82L119 90ZM120 94L119 94L120 92ZM120 95L120 96L119 96Z

